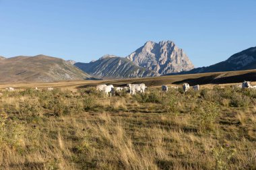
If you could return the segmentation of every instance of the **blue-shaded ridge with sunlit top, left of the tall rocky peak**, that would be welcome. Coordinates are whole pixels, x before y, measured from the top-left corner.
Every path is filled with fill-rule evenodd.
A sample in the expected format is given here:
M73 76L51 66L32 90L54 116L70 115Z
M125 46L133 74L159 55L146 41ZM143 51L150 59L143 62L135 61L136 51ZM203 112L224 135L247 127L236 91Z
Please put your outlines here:
M123 79L134 77L153 77L158 73L139 67L127 58L106 55L89 63L77 62L75 66L100 79Z

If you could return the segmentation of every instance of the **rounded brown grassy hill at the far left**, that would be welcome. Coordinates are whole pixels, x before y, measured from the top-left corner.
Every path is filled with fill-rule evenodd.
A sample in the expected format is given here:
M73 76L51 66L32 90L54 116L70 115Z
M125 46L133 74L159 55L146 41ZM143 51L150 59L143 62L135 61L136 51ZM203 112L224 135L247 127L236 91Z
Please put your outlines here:
M15 56L0 60L0 82L73 79L90 79L90 75L61 58L51 56Z

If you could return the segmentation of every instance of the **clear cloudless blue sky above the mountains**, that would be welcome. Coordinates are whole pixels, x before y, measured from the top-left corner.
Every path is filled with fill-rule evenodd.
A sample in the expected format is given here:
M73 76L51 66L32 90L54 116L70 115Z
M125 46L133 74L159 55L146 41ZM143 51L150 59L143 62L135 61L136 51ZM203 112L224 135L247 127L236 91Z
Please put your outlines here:
M255 0L0 0L0 55L90 62L172 40L195 67L256 46Z

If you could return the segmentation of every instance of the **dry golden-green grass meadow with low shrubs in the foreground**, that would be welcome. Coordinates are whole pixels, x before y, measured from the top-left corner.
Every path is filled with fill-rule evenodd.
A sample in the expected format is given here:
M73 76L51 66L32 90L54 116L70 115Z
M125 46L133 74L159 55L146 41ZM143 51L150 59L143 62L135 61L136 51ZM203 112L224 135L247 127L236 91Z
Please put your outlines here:
M253 89L0 92L0 169L256 169Z

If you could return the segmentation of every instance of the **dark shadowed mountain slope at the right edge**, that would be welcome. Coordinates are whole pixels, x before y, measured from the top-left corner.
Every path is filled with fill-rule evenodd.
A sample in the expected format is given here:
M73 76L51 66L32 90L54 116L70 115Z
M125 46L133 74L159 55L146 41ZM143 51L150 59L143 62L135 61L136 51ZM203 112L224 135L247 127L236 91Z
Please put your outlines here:
M187 73L211 73L211 72L220 72L220 71L241 71L256 69L256 47L248 48L238 52L227 60L218 62L215 65L209 67L199 67Z

